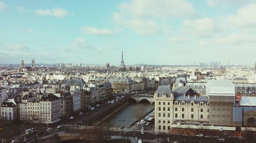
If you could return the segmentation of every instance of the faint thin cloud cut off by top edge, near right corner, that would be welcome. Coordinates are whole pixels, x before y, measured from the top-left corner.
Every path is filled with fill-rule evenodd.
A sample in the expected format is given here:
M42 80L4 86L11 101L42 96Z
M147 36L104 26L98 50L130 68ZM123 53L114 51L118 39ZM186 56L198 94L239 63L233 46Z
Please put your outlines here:
M207 0L210 7L241 7L251 2L253 0Z

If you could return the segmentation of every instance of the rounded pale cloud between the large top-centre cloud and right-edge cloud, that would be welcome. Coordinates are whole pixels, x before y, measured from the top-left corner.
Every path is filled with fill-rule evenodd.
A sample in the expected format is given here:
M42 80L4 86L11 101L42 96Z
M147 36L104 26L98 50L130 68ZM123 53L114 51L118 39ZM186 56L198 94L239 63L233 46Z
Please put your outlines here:
M222 25L217 24L211 18L184 20L182 26L185 33L190 32L199 37L208 37L223 30Z

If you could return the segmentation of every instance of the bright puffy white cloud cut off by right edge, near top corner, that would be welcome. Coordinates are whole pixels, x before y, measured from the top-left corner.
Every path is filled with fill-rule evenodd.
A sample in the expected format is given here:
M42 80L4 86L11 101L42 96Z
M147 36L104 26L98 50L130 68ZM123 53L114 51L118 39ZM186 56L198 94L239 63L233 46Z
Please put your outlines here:
M235 27L256 27L256 3L249 4L237 11L236 15L223 17L229 25Z

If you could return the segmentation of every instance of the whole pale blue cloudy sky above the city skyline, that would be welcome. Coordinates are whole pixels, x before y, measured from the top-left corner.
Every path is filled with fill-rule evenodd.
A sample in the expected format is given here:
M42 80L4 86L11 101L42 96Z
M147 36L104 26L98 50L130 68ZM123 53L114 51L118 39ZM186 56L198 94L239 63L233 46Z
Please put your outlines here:
M0 0L0 64L256 62L256 1Z

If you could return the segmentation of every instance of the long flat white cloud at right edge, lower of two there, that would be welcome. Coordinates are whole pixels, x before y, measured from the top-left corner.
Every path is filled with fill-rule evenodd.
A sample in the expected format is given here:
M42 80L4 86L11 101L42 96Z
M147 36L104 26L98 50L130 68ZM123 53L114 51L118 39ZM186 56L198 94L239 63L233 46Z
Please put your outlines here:
M249 33L232 33L226 36L202 40L199 43L202 45L244 45L254 43L256 36Z

